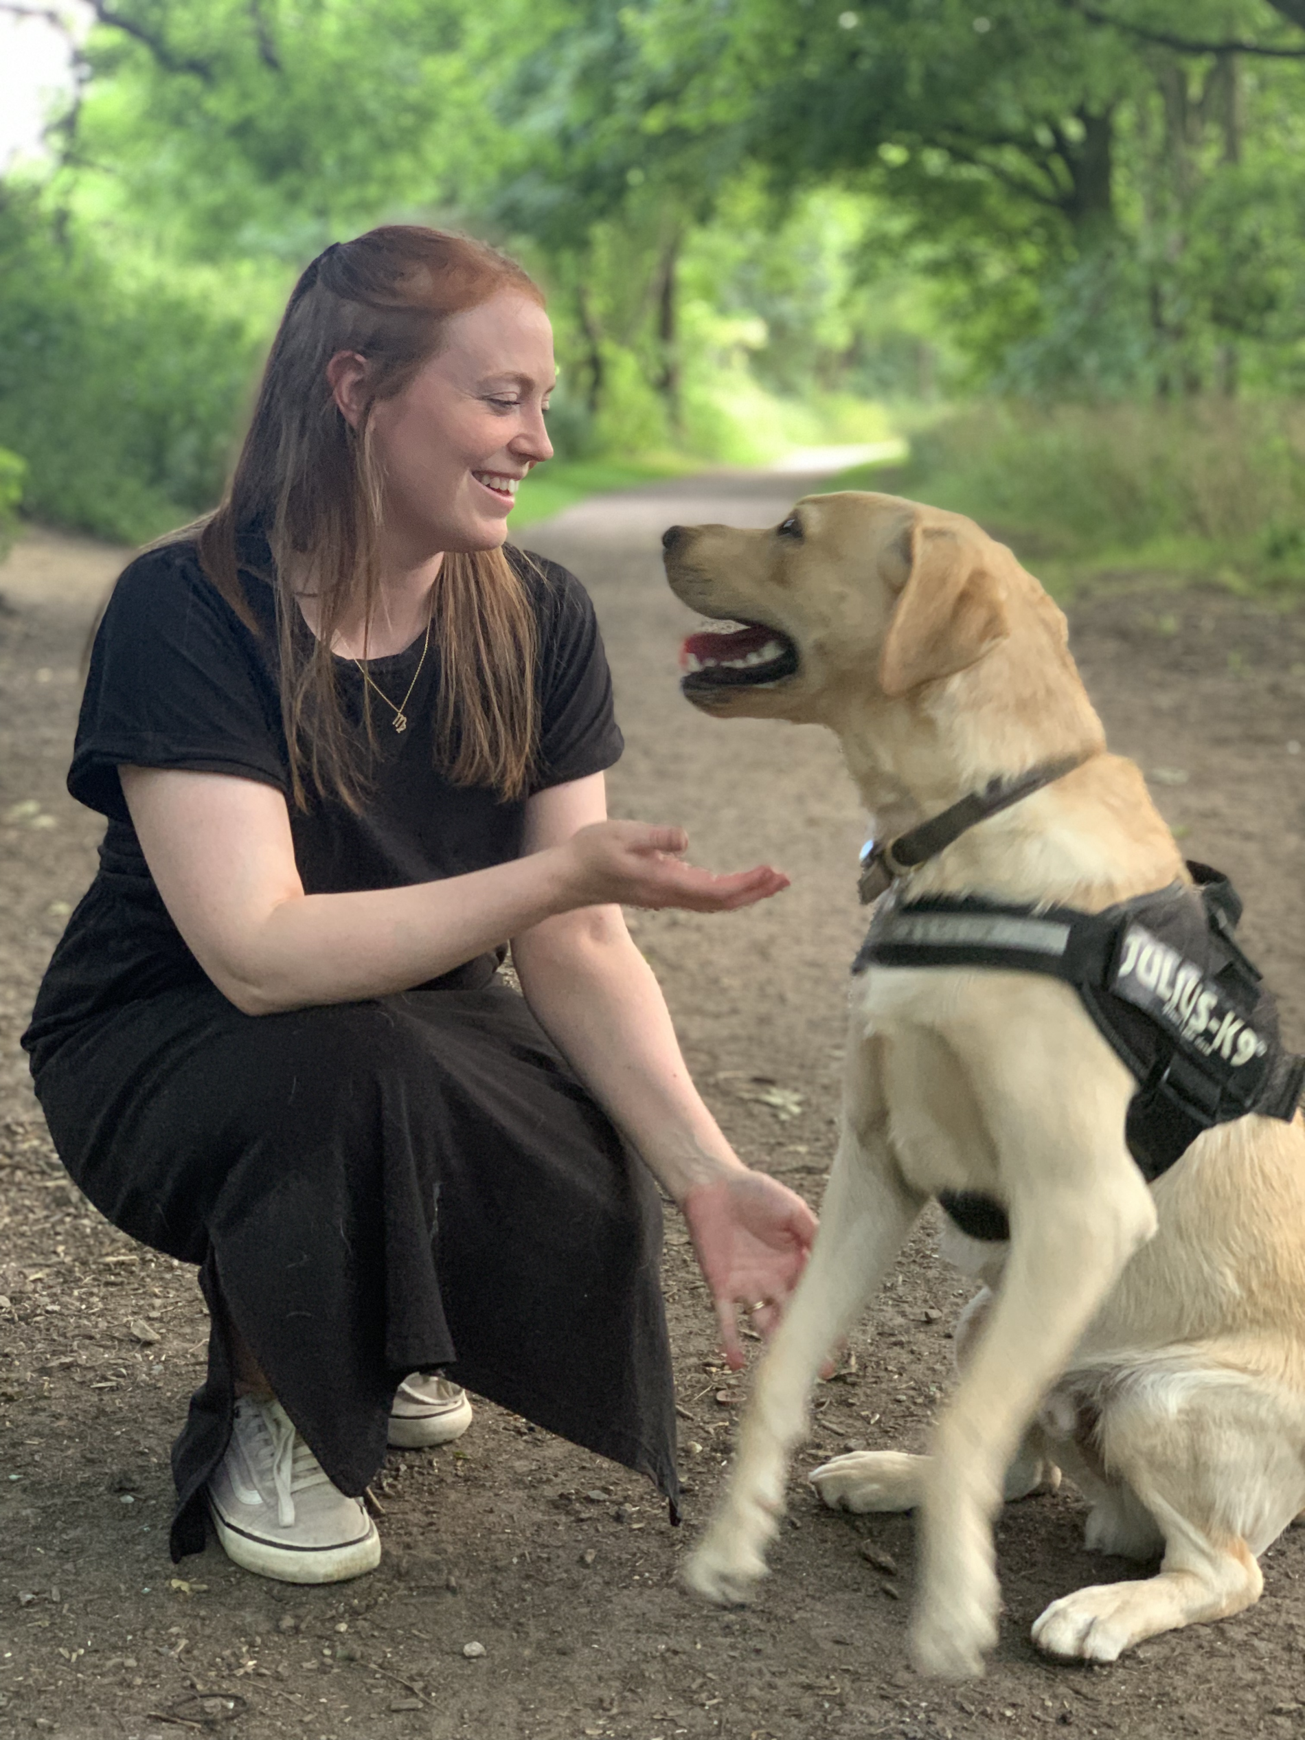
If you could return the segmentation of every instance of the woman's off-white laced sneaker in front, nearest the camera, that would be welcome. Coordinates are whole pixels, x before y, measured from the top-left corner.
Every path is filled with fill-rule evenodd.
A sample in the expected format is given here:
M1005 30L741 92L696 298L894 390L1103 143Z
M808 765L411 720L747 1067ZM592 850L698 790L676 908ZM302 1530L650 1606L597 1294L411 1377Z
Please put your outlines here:
M277 1401L237 1401L209 1510L226 1556L282 1583L339 1583L381 1563L362 1500L331 1484Z

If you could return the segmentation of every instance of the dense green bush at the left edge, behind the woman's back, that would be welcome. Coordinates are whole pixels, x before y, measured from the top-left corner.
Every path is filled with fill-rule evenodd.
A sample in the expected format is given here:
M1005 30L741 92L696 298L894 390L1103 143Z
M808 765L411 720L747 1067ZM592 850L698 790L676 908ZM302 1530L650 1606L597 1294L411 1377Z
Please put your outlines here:
M0 447L24 510L137 543L223 489L258 362L209 296L61 240L37 197L0 204Z

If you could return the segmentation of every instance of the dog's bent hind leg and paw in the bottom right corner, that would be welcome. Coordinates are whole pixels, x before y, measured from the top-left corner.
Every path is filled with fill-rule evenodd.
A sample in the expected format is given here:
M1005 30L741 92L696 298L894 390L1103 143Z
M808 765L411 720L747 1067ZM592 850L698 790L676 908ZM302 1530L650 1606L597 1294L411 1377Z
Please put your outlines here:
M1155 1576L1053 1601L1034 1643L1047 1655L1114 1662L1143 1637L1260 1599L1256 1557L1305 1500L1305 1401L1272 1378L1201 1369L1178 1350L1121 1373L1100 1408L1096 1453L1162 1538L1164 1559Z

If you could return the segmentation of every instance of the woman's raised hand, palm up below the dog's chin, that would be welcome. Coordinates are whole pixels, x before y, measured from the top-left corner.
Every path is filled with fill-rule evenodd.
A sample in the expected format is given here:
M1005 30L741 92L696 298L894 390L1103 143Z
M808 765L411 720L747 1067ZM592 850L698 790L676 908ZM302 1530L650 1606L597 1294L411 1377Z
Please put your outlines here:
M788 887L783 870L757 865L713 875L684 861L689 835L647 821L597 821L559 847L578 907L682 907L734 912Z

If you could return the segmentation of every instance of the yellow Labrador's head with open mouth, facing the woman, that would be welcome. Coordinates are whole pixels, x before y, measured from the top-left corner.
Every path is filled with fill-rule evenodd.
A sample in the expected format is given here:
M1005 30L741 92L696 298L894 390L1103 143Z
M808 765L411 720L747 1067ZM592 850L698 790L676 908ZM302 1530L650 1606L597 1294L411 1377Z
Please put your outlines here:
M666 578L727 632L684 642L684 694L706 712L828 720L867 684L901 698L978 665L1032 606L1063 618L973 520L901 496L806 496L769 531L672 525Z

